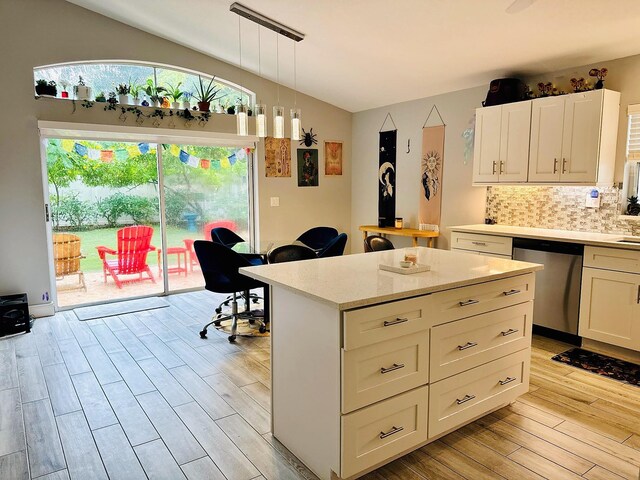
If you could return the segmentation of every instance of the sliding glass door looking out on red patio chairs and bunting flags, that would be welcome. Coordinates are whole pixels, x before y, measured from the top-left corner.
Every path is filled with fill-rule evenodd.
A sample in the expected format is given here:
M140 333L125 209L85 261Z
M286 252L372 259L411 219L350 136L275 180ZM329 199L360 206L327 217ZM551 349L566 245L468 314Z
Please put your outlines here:
M202 287L193 242L216 226L250 238L251 158L221 146L47 139L58 307Z

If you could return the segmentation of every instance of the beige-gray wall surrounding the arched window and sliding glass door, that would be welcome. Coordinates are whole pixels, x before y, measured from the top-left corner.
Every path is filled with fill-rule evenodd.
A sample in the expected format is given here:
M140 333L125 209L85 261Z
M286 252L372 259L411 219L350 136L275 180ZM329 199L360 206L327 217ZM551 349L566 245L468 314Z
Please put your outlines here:
M275 104L276 88L271 82L241 73L219 60L63 0L2 0L0 18L4 65L4 114L0 117L0 295L25 291L30 303L39 304L43 303L42 294L50 291L50 266L37 121L120 122L117 114L100 108L78 108L72 114L70 102L35 100L35 66L84 60L136 60L175 65L242 82L259 93L269 107ZM280 97L281 103L287 106L287 99L292 103L293 92L281 87ZM321 174L317 188L298 188L295 176L265 178L261 142L257 155L257 210L259 233L267 240L295 239L314 225L333 225L342 231L351 225L352 115L305 95L298 94L297 103L303 110L305 128L313 127L318 133L321 167L324 166L323 141L344 141L344 174L329 178ZM218 117L205 130L235 132L233 118ZM182 128L181 122L176 125ZM273 131L271 126L270 131ZM296 146L292 148L294 172ZM271 196L280 197L280 207L269 206Z

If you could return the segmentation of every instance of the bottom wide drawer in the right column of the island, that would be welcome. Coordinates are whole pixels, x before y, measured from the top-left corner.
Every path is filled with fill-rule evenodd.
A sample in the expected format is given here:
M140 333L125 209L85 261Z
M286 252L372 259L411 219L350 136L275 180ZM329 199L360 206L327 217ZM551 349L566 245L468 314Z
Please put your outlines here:
M514 400L529 390L531 348L429 386L429 437Z

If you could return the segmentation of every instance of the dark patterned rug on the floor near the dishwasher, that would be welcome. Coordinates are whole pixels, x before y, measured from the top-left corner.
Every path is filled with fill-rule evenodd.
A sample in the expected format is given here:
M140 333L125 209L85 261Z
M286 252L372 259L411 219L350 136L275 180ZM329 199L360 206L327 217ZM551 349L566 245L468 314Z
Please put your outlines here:
M582 368L604 377L613 378L630 385L640 386L640 365L581 348L572 348L559 353L551 360Z

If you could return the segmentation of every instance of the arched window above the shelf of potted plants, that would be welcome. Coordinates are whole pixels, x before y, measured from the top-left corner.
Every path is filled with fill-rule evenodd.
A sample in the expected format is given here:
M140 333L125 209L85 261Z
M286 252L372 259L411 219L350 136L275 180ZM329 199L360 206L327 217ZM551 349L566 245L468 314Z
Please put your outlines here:
M117 94L118 85L123 84L133 87L134 91L139 90L140 102L143 101L144 96L150 96L145 91L149 82L155 87L163 87L166 90L163 92L164 96L171 97L170 92L174 89L197 96L200 78L205 86L209 84L211 78L214 78L213 85L219 89L212 102L214 105L231 106L238 103L252 105L255 101L253 92L233 82L168 65L127 61L74 62L36 67L33 70L33 76L36 85L39 80L44 80L47 85L55 82L56 94L53 95L52 91L47 91L45 94L56 98L75 98L74 87L80 83L80 77L82 82L91 88L89 100L99 96L108 98L110 92ZM182 100L185 97L188 95L183 94ZM171 98L169 100L172 101ZM195 99L191 101L192 105L195 101Z

